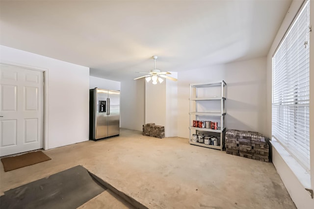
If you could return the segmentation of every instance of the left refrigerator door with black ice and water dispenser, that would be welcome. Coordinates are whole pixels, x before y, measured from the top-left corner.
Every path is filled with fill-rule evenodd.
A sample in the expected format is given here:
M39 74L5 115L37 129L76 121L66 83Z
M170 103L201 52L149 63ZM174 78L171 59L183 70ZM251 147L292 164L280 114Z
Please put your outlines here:
M108 137L108 117L106 104L108 90L96 88L96 121L95 121L95 139Z

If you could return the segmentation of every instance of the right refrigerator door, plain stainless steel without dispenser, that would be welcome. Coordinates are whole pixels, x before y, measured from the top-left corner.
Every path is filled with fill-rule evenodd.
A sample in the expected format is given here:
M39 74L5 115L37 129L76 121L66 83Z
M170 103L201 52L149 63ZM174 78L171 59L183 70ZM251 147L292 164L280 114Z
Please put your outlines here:
M120 134L120 91L108 91L108 137Z

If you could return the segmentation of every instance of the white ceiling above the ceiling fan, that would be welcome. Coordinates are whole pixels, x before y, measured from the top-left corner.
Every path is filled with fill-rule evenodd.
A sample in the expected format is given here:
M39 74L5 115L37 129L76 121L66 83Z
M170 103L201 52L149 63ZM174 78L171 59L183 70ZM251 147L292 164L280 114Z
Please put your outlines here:
M0 1L0 44L121 81L265 56L291 0ZM254 70L254 69L252 69Z

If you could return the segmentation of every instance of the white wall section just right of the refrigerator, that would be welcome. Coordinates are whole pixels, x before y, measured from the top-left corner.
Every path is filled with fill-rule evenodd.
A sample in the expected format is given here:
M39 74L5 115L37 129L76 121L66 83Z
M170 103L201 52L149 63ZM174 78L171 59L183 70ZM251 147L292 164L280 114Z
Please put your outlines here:
M121 81L120 127L143 130L145 123L145 79Z

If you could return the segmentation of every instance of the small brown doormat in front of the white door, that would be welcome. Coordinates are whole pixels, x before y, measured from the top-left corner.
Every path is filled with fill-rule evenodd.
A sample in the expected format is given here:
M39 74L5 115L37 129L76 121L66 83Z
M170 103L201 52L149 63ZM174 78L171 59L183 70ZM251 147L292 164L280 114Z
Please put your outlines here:
M5 172L49 160L51 160L51 158L45 155L42 151L28 152L23 155L1 158Z

